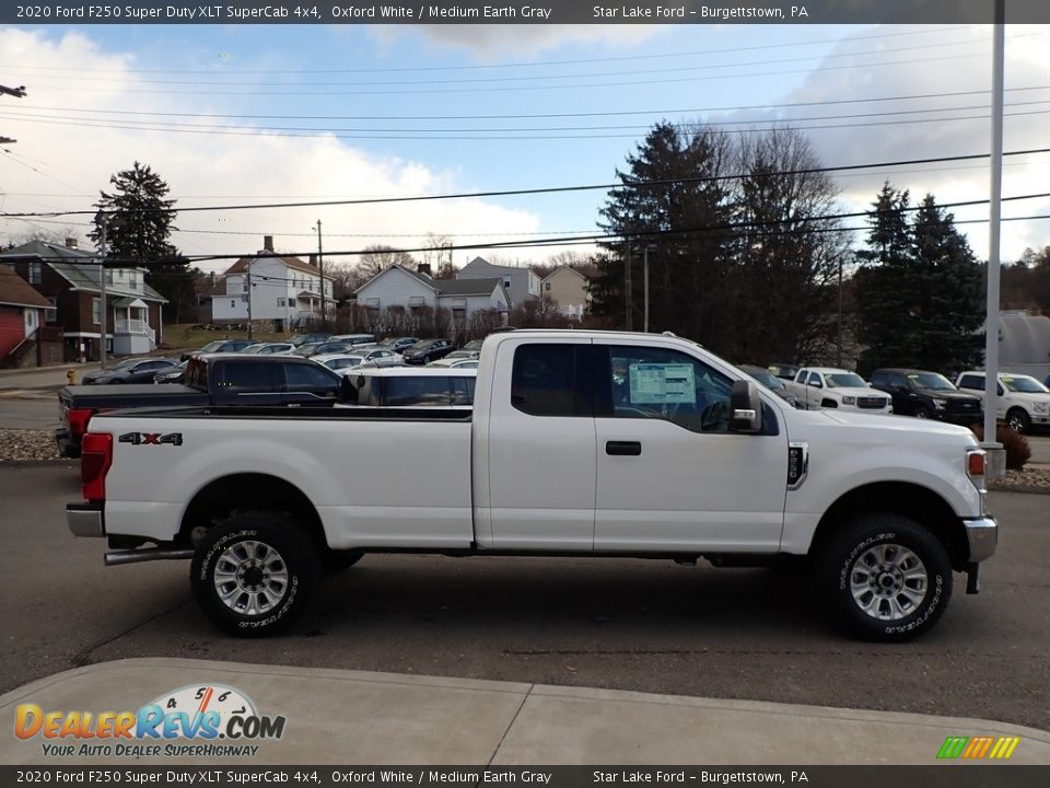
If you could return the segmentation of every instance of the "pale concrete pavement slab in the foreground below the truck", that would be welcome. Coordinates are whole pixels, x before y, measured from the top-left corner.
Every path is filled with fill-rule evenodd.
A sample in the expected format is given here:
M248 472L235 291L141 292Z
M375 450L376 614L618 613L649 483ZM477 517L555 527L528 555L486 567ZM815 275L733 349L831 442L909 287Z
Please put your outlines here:
M981 719L168 658L100 663L32 682L0 696L0 718L13 719L25 703L45 711L137 710L177 688L211 684L242 691L261 715L285 717L283 738L258 742L257 753L238 761L256 766L934 765L947 737L1019 737L1007 763L1050 764L1047 731ZM45 755L42 742L0 738L0 763L223 762L164 755L163 740L161 751L139 757L59 758ZM83 742L61 743L79 750Z

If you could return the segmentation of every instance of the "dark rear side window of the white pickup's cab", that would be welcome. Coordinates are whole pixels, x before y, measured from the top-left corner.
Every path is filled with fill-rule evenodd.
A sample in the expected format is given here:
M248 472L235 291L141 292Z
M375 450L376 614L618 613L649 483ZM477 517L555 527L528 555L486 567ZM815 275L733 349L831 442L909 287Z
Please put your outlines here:
M514 350L511 405L529 416L593 416L590 345L522 345Z

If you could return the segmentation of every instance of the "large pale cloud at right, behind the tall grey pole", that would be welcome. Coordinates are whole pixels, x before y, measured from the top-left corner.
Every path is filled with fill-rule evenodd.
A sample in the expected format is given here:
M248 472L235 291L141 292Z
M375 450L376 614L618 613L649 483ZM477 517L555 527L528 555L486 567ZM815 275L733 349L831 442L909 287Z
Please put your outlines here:
M804 85L785 96L785 102L819 102L883 96L924 96L910 101L877 102L806 107L796 117L852 115L859 113L909 112L886 117L843 118L814 121L814 125L850 124L849 128L813 129L808 136L826 165L863 162L892 162L926 158L988 153L991 146L992 56L990 26L970 26L945 33L940 42L926 39L925 51L858 56L826 61L835 69L815 70ZM935 43L950 46L935 46ZM956 45L958 44L958 45ZM1006 108L1003 148L1005 151L1046 148L1046 113L1050 111L1050 89L1010 91L1010 89L1050 85L1050 58L1046 51L1050 35L1046 28L1010 25L1007 27L1005 83ZM855 51L849 38L836 47L836 55ZM871 49L871 44L864 46ZM976 57L959 57L962 55ZM899 62L880 66L885 61ZM918 62L917 62L918 61ZM849 65L850 68L840 68ZM968 95L941 95L972 92ZM1019 105L1020 102L1040 102ZM1017 104L1011 106L1011 104ZM965 108L955 108L965 107ZM920 111L920 112L913 112ZM1018 113L1016 117L1010 117ZM1020 114L1038 113L1038 114ZM790 116L790 115L784 115ZM953 117L982 116L950 120ZM926 123L912 123L928 120ZM890 123L887 123L890 121ZM883 125L885 124L885 125ZM800 126L806 124L800 123ZM851 209L865 209L885 179L898 188L911 190L913 201L933 193L937 202L987 199L990 164L988 160L890 167L863 174L836 175L842 199ZM1004 160L1003 196L1050 192L1050 154L1007 157ZM1050 200L1006 202L1003 216L1029 216L1050 212ZM952 209L956 219L987 219L988 207ZM988 256L987 224L959 224L970 237L975 253ZM1005 222L1002 232L1002 259L1019 257L1026 246L1050 242L1050 220Z

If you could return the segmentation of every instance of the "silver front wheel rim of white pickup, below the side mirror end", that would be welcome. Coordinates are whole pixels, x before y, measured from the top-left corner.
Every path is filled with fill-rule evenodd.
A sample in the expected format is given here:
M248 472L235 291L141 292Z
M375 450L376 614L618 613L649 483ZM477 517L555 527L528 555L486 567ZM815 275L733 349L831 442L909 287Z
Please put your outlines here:
M922 560L898 544L870 547L850 571L853 601L866 615L878 621L900 621L912 615L929 589Z

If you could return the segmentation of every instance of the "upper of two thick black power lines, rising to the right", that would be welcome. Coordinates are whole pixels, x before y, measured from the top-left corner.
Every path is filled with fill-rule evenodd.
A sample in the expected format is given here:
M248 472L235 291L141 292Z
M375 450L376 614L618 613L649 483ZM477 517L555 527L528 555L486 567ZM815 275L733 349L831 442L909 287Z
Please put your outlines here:
M1028 150L1017 150L1017 151L1006 151L1003 153L1004 157L1015 157L1015 155L1030 155L1034 153L1048 153L1050 148L1032 148ZM821 167L805 167L800 170L783 170L780 172L763 173L762 177L773 177L773 176L784 176L784 175L812 175L816 173L831 173L831 172L844 172L851 170L876 170L884 167L894 167L894 166L906 166L911 164L932 164L940 162L957 162L957 161L975 161L979 159L988 159L988 153L970 153L966 155L955 155L955 157L930 157L925 159L903 159L896 161L884 161L884 162L873 162L868 164L843 164L838 166L821 166ZM462 192L444 195L417 195L411 197L371 197L371 198L360 198L360 199L343 199L343 200L320 200L320 201L308 201L308 202L268 202L268 204L256 204L256 205L226 205L226 206L190 206L188 208L177 208L176 212L187 213L196 211L213 211L213 210L258 210L258 209L272 209L272 208L314 208L320 206L350 206L350 205L381 205L381 204L397 204L397 202L421 202L430 200L446 200L446 199L468 199L468 198L478 198L478 197L511 197L511 196L523 196L523 195L541 195L541 194L556 194L556 193L569 193L569 192L595 192L595 190L610 190L610 189L631 189L631 188L644 188L651 186L669 186L674 184L698 184L698 183L711 183L719 181L739 181L752 177L751 175L744 174L733 174L733 175L698 175L693 177L681 177L681 178L663 178L656 181L638 181L638 182L625 182L625 183L612 183L612 184L587 184L579 186L548 186L541 188L529 188L529 189L499 189L499 190L489 190L489 192ZM161 210L161 209L147 209L141 208L137 209L139 212L147 212L150 210ZM164 209L168 210L168 209ZM55 218L59 216L94 216L97 210L74 210L74 211L50 211L46 213L40 212L21 212L21 213L9 213L2 212L0 217L9 218L24 218L24 217L44 217L44 218Z

